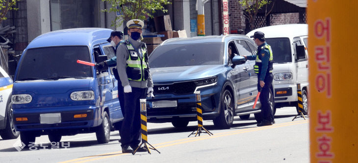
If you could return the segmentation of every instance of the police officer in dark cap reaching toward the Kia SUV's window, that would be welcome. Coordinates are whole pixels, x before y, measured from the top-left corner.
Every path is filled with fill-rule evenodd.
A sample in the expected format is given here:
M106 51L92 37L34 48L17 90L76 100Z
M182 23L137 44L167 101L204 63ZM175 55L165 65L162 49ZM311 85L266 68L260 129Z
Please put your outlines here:
M269 102L269 93L274 76L272 75L273 70L273 56L271 47L265 42L265 34L256 31L254 38L257 47L256 55L244 56L247 60L256 60L254 70L258 77L257 90L261 92L260 103L261 103L261 114L262 121L257 126L268 126L275 123L274 115ZM261 90L261 91L260 91Z

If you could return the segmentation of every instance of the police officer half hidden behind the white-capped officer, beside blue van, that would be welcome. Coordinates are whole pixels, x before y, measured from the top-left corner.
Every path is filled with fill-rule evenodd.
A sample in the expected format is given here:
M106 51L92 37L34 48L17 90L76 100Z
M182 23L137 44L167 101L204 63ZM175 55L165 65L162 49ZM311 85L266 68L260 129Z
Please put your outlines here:
M121 44L124 43L123 40L123 32L121 31L112 31L111 35L109 36L109 38L107 39L107 42L111 43L111 45L114 48L114 52L115 54L117 53L117 47ZM106 61L100 62L98 63L98 69L102 69L103 67L116 67L117 66L117 56L115 55L113 58L110 58ZM122 110L122 115L125 115L125 109L124 109L124 92L123 92L123 86L122 86L122 82L119 78L118 75L118 71L116 68L113 68L113 75L114 77L117 79L118 81L118 99L119 99L119 104L121 106L121 110ZM122 127L122 121L114 124L115 128L118 130L121 130Z

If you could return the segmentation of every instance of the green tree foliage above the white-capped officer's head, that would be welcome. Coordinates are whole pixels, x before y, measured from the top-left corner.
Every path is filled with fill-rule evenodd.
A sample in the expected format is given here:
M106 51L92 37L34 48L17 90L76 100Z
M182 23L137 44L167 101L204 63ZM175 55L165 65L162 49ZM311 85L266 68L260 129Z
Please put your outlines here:
M153 18L153 13L161 10L164 13L164 5L169 4L169 0L102 0L109 2L111 8L102 10L103 12L122 12L112 22L112 26L121 26L124 21L132 19L145 20L146 16ZM119 21L121 20L121 21Z

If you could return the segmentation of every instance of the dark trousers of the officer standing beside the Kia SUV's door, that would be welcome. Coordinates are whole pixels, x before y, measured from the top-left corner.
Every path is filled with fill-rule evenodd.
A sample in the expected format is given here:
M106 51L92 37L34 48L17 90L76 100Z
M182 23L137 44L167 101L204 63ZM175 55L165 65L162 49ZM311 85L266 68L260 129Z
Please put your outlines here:
M274 120L274 114L271 110L271 105L269 102L269 93L270 93L270 87L272 84L272 81L274 79L274 76L272 73L267 73L265 76L265 79L263 82L265 82L265 85L262 88L261 94L260 94L260 103L261 103L261 115L263 120L273 121ZM261 88L260 81L258 80L257 83L257 90ZM272 97L273 98L273 97Z

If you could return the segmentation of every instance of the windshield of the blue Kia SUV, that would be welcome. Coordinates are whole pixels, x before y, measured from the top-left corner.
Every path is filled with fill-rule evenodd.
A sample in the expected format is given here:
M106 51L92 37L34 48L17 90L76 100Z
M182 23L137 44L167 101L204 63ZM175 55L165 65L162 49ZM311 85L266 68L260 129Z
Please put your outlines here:
M152 68L221 65L224 43L164 45L155 48L149 57Z

